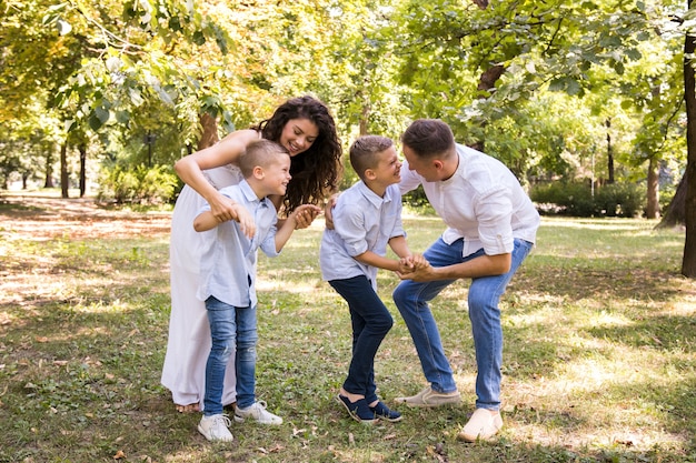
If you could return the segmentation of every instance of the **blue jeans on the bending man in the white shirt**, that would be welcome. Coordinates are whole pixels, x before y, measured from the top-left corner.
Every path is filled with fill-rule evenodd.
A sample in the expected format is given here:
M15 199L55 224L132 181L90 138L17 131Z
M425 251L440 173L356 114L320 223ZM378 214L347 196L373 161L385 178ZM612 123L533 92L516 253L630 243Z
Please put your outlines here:
M424 256L432 266L446 266L484 255L484 250L480 249L474 254L463 258L463 239L447 244L439 238L428 248ZM471 280L468 303L478 369L476 376L477 409L499 410L500 407L503 326L500 325L498 301L533 246L533 243L516 239L509 272ZM394 291L394 302L411 334L422 372L430 382L430 386L438 392L453 392L457 385L428 302L455 281L440 280L418 283L404 280Z

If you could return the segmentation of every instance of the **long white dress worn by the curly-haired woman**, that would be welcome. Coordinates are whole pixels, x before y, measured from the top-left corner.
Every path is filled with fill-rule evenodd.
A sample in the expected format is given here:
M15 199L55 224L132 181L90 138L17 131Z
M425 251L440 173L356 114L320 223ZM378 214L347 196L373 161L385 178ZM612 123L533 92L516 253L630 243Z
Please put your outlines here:
M217 190L238 184L243 175L232 164L203 171ZM169 241L171 314L169 339L162 368L161 383L171 391L178 405L198 403L203 410L206 394L206 362L210 353L210 325L206 304L196 299L198 289L201 240L193 230L193 219L206 200L189 185L177 199L171 217ZM225 375L222 404L235 402L235 355L230 358Z

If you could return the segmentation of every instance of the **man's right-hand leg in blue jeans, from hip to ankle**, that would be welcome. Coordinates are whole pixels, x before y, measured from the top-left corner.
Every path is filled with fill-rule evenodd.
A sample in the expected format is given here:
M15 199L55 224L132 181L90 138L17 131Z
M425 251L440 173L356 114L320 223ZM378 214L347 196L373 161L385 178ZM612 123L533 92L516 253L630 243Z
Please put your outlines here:
M500 366L503 328L498 301L533 244L515 240L513 263L503 275L474 279L469 288L469 319L476 349L476 407L496 411L500 407Z

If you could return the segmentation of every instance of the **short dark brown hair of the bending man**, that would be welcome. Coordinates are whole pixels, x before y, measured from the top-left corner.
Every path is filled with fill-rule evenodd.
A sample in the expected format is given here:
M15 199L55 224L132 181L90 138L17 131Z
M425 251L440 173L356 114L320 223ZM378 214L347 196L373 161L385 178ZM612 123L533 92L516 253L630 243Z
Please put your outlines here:
M454 152L455 135L439 119L417 119L401 135L401 143L419 158L449 155Z

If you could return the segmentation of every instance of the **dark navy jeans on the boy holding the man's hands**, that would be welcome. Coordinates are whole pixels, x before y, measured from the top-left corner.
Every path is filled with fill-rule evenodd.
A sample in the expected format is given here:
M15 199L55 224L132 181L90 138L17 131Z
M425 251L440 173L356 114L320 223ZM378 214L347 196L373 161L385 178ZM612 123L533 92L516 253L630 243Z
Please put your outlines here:
M372 403L377 400L375 355L394 320L365 275L331 280L329 284L348 302L352 323L352 359L344 389Z

